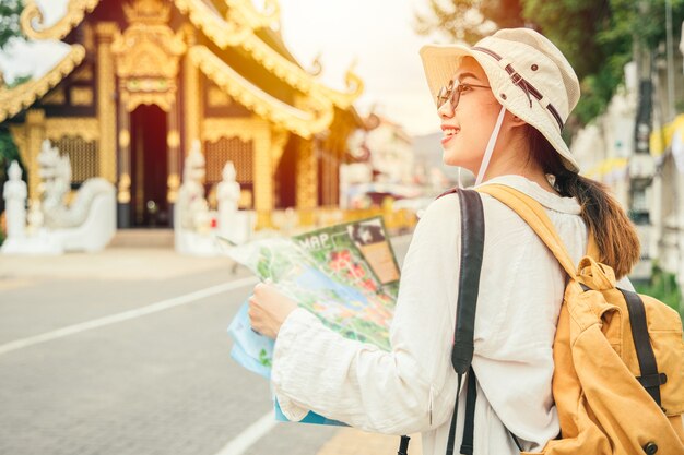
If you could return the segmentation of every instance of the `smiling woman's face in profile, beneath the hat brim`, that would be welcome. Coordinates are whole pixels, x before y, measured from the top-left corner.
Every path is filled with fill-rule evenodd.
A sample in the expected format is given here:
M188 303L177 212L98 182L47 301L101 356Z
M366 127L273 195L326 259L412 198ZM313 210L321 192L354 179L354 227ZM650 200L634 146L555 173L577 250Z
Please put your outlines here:
M484 70L471 57L463 59L453 83L490 86ZM472 87L461 92L456 109L450 101L445 103L437 111L444 132L444 163L477 173L500 109L491 88Z

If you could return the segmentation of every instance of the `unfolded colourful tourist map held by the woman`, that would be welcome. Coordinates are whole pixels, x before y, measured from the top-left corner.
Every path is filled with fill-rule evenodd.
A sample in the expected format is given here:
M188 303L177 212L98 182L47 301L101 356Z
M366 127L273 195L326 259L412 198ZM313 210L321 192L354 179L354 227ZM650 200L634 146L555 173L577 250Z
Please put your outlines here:
M381 217L341 224L291 239L232 247L227 253L261 280L318 316L342 336L390 350L389 327L399 291L399 266ZM243 304L228 333L231 356L270 378L274 342L253 332ZM275 403L276 418L286 420ZM340 424L310 412L309 423Z

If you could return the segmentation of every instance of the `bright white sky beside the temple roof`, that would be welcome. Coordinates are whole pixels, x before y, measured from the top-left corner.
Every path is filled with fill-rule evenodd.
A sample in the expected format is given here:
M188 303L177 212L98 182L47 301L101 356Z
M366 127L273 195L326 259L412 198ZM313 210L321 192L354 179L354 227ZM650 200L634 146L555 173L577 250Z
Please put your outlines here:
M418 57L422 45L436 38L417 36L414 11L425 0L279 0L281 33L290 51L304 68L317 56L321 81L344 89L351 64L365 84L355 103L362 115L372 109L412 135L438 131L439 121ZM67 0L38 0L46 22L59 19ZM56 64L66 48L56 44L16 44L0 55L5 80L42 74Z

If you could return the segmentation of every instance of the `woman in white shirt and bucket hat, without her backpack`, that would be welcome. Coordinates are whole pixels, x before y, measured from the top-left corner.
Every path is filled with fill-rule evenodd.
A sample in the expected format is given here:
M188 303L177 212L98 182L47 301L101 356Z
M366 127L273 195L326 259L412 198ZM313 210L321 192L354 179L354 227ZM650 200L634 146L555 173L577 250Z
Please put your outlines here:
M590 229L601 261L625 276L639 258L634 227L599 183L578 176L561 137L579 98L577 76L561 51L539 33L517 28L472 48L428 46L421 57L445 133L444 161L471 170L476 184L509 185L539 201L576 262L587 251ZM487 195L482 200L474 454L519 453L510 433L526 451L541 451L559 432L552 345L565 275L518 215ZM342 338L273 287L255 288L252 326L276 339L272 383L288 418L310 409L367 431L422 432L424 455L445 453L457 393L450 349L460 270L458 203L457 194L437 199L415 229L391 352Z

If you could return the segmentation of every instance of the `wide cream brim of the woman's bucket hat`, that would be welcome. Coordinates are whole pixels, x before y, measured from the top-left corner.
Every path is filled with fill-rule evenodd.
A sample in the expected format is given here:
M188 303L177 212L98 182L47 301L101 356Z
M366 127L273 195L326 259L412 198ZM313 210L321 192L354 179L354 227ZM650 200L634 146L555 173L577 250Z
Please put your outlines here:
M573 172L579 172L579 164L573 157L570 149L561 136L555 119L536 100L532 101L532 107L530 107L530 98L520 96L524 93L514 84L510 75L499 65L496 59L486 53L474 51L468 46L456 44L423 46L420 56L435 106L437 106L439 89L448 85L453 79L463 58L472 57L484 70L490 80L490 85L498 88L492 89L498 103L506 110L539 130L554 149L558 152L564 166Z

